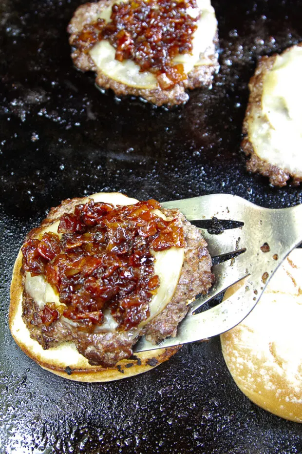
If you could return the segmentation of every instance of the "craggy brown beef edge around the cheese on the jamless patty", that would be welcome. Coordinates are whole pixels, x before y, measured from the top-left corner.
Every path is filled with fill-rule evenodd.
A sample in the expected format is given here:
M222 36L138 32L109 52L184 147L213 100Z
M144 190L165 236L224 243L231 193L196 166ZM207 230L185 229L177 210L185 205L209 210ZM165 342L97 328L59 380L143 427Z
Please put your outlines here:
M301 47L301 44L293 47ZM281 56L286 54L289 50L286 49ZM272 71L273 66L278 58L278 54L274 54L271 57L264 56L258 62L258 65L255 70L254 76L250 79L248 84L250 95L248 100L248 105L245 112L245 119L243 123L243 134L245 135L241 147L245 152L245 155L249 158L246 163L246 168L248 171L253 173L260 173L261 175L268 177L269 182L273 186L286 186L289 178L292 178L292 184L297 185L302 181L302 169L300 175L295 171L292 171L286 165L286 159L284 159L284 165L276 165L274 158L271 159L262 159L257 153L256 145L253 143L252 138L252 127L255 122L255 118L259 121L261 120L261 125L259 129L263 126L266 128L270 127L269 119L263 113L263 94L264 94L264 79ZM296 90L301 90L300 84L295 87ZM283 106L284 112L287 111L286 106ZM285 129L280 131L280 134L290 136ZM288 142L288 147L290 147ZM286 154L286 153L285 153Z

